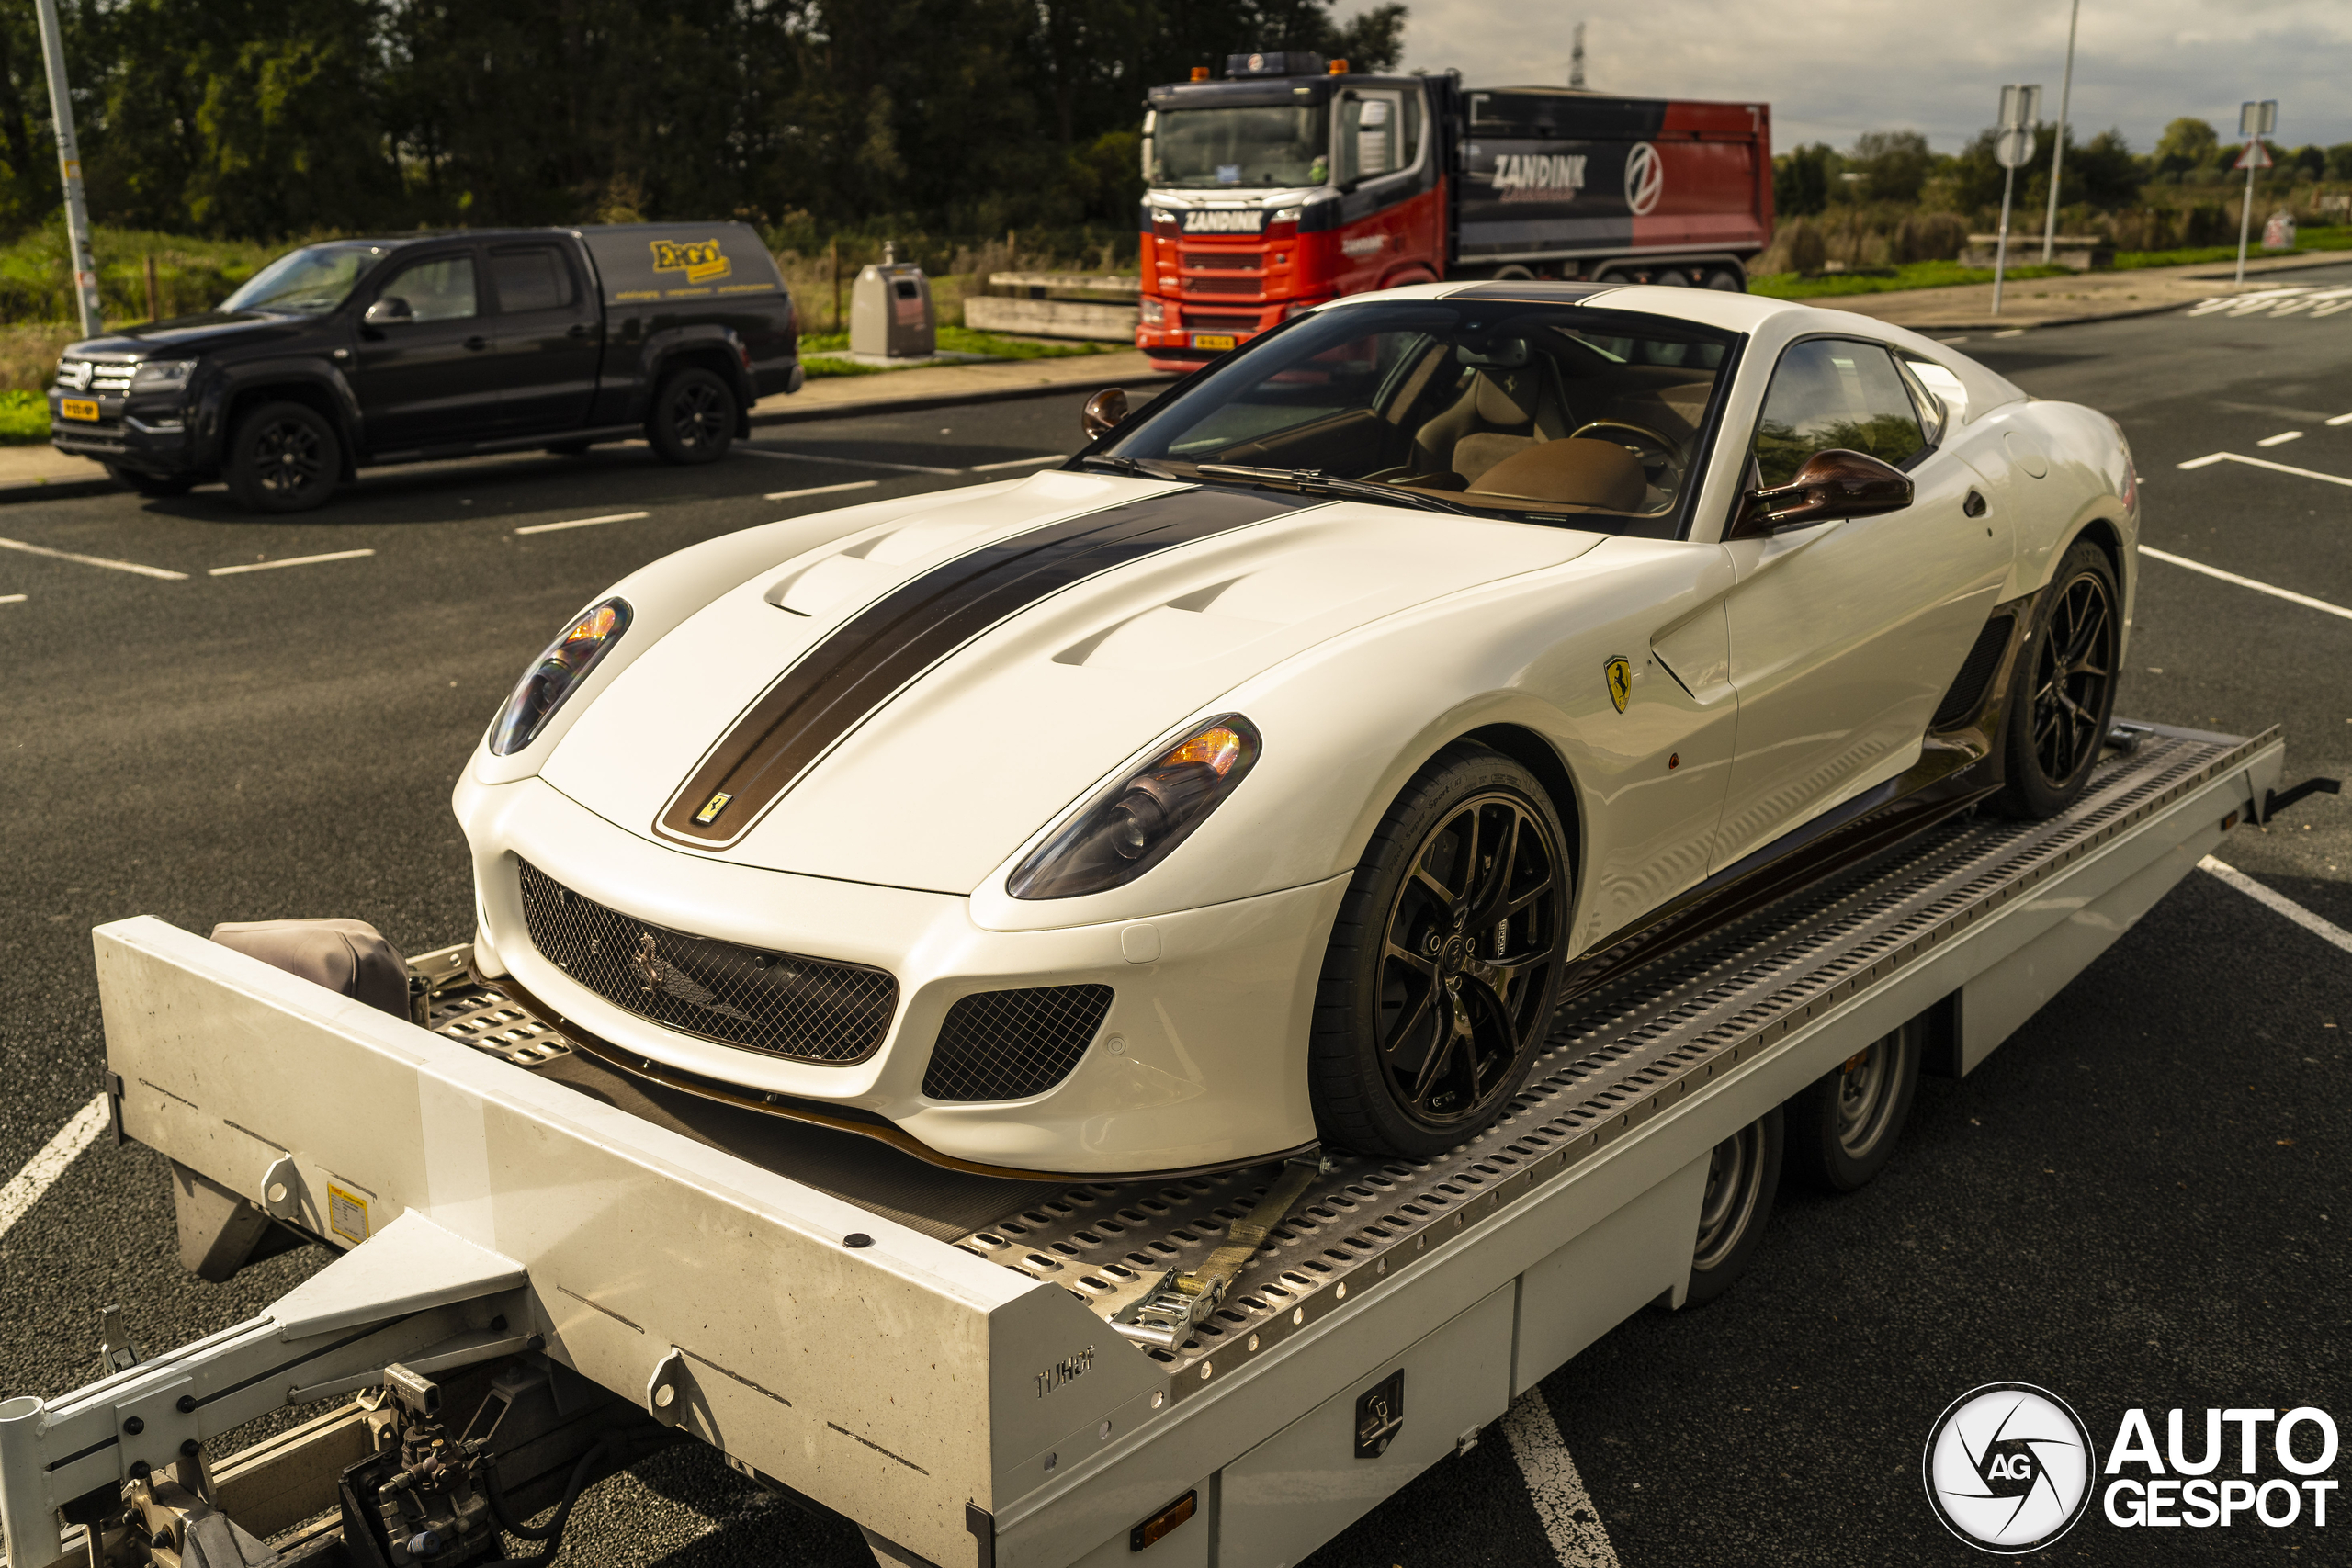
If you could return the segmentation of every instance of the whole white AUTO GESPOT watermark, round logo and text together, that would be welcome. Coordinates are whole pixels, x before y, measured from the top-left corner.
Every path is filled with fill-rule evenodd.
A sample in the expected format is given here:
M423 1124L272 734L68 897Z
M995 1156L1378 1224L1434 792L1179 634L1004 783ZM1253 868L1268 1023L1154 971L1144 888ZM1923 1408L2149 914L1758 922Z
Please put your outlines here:
M2072 1406L2030 1382L1987 1382L1955 1399L1929 1429L1929 1505L1952 1535L2004 1556L2049 1547L2093 1500L2119 1528L2326 1528L2338 1490L2326 1474L2338 1455L2331 1413L2173 1408L2161 1425L2159 1446L2147 1408L2124 1410L2100 1467ZM2225 1472L2230 1458L2237 1474Z

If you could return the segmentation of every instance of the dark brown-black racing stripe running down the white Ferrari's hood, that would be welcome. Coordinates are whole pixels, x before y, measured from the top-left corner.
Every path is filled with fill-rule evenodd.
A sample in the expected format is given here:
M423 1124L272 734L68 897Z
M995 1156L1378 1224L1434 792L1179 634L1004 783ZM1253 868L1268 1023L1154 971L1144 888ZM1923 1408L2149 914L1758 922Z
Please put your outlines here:
M1000 621L1089 576L1322 498L1188 489L1014 534L901 583L783 672L670 797L659 830L724 846L910 679ZM710 823L694 816L731 799Z

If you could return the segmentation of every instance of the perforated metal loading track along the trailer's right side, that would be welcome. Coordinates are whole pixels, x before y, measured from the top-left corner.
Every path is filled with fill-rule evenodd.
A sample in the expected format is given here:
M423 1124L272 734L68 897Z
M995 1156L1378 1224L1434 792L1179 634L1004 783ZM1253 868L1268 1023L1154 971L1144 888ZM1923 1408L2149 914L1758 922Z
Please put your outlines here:
M1350 1293L1381 1288L1395 1265L1428 1251L1432 1239L1573 1175L1684 1095L1933 959L2084 856L2277 745L2277 731L2251 741L2154 726L2131 733L2140 736L2138 748L2110 757L2060 818L1950 823L1757 910L1696 950L1578 997L1510 1112L1444 1159L1327 1161L1327 1173L1308 1185L1190 1338L1167 1345L1136 1335L1167 1363L1169 1396L1197 1396L1216 1375L1312 1326ZM2253 799L2249 790L2249 811ZM1962 1020L1936 1025L1952 1074L1997 1044L1994 1037L1964 1058ZM1268 1192L1270 1171L1157 1187L1082 1182L957 1246L1061 1284L1117 1326L1169 1269L1207 1260Z

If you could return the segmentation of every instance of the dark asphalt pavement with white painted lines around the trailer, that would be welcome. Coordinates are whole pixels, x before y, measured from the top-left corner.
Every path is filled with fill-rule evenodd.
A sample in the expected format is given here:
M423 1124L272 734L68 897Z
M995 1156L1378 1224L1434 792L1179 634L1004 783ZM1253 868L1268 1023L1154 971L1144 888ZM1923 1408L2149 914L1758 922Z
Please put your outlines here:
M2343 778L2352 268L2293 282L2312 299L1962 348L2133 442L2145 543L2171 559L2143 569L2119 710L2279 724L2288 778ZM562 616L713 534L1023 473L1077 444L1077 404L786 425L706 470L642 447L386 470L287 522L216 489L0 508L0 538L89 557L0 548L0 1180L96 1088L89 926L358 914L409 952L461 940L447 790ZM306 557L336 559L273 564ZM2220 858L2352 926L2352 804L2239 827ZM2100 1448L2133 1406L2159 1441L2171 1408L2192 1429L2206 1406L2352 1425L2347 1027L2352 954L2192 875L1985 1067L1929 1079L1872 1187L1783 1192L1729 1298L1628 1321L1310 1561L1976 1561L1929 1514L1919 1453L1955 1396L1999 1380L2063 1394ZM169 1347L320 1262L183 1274L162 1161L101 1138L0 1237L0 1394L87 1382L106 1302ZM2352 1528L2352 1500L2328 1528ZM2164 1535L2093 1514L2044 1556L2326 1561L2331 1540L2307 1509ZM583 1500L564 1561L870 1556L840 1521L675 1450Z

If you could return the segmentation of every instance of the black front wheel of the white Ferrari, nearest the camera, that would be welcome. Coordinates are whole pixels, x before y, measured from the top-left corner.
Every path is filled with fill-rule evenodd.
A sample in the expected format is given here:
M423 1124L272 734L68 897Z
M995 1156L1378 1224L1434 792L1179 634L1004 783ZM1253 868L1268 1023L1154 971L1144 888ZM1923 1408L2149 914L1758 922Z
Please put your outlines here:
M1428 1159L1526 1081L1559 994L1566 832L1543 785L1451 745L1364 846L1315 992L1308 1084L1327 1143Z

